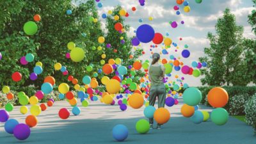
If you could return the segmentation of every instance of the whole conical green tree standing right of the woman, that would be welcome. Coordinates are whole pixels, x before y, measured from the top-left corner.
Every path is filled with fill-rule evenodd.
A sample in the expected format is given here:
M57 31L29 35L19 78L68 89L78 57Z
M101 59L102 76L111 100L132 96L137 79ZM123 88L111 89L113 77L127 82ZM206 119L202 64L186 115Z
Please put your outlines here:
M208 33L210 47L205 47L205 57L208 68L202 70L205 76L202 84L209 85L246 85L250 79L245 74L243 52L243 27L237 26L236 17L227 8L223 17L216 23L216 35Z

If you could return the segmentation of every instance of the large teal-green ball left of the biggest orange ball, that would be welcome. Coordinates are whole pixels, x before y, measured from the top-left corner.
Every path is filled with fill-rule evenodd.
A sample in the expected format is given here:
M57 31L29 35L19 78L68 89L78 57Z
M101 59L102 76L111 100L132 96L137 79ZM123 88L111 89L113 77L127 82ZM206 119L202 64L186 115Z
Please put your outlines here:
M183 93L183 100L189 106L196 106L201 102L202 93L195 87L187 88Z

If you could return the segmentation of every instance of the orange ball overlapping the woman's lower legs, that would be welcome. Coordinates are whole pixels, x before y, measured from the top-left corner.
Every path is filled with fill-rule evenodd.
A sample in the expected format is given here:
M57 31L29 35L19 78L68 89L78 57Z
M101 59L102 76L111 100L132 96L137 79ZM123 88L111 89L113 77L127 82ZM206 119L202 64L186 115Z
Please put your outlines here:
M157 124L165 124L170 119L170 112L166 108L158 108L154 113Z

